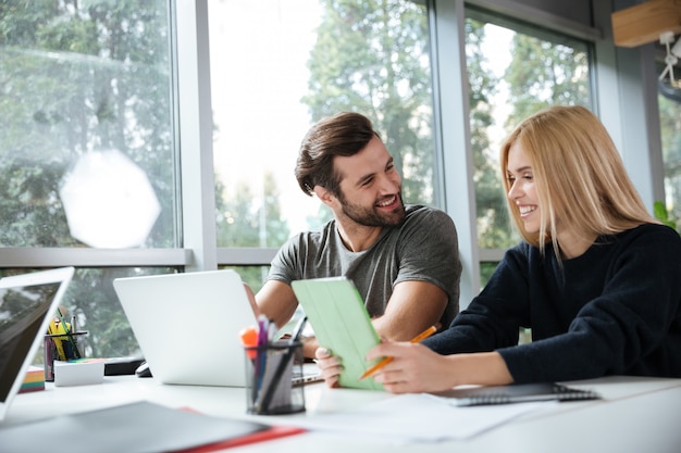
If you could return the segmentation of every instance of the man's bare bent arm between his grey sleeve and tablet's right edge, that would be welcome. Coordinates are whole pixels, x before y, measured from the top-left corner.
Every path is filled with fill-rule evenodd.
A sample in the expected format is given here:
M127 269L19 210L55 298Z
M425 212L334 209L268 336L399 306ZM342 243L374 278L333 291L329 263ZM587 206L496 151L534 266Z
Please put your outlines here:
M382 316L372 319L382 338L409 341L430 326L439 326L447 306L447 293L434 284L421 280L395 285L393 295Z

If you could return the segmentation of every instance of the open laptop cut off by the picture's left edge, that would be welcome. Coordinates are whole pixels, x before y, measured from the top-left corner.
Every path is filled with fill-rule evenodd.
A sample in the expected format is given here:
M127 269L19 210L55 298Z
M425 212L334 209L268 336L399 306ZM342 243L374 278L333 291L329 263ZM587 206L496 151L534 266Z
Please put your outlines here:
M22 386L74 270L62 267L0 279L0 420Z

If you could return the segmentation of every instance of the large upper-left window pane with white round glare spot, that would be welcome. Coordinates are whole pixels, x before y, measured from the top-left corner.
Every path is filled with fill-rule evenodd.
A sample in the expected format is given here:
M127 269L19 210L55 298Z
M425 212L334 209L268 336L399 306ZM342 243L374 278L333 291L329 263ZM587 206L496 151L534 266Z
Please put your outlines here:
M176 246L168 11L0 4L0 246Z

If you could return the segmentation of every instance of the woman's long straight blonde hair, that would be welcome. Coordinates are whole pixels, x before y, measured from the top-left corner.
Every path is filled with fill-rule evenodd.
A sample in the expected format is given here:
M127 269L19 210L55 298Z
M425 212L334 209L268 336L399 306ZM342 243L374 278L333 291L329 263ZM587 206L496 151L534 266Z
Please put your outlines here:
M611 235L644 223L658 223L646 211L612 139L600 121L583 106L554 106L524 119L502 147L500 169L509 192L508 152L519 144L530 159L541 227L529 232L518 206L506 198L516 227L544 252L547 241L558 251L557 224L578 237Z

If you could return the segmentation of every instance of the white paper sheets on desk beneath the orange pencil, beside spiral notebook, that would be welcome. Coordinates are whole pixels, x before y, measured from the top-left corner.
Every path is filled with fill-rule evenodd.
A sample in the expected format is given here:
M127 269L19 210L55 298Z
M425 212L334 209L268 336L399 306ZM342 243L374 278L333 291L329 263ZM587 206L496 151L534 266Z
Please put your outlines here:
M430 394L401 394L339 413L292 420L315 431L391 439L397 443L462 440L556 402L457 407Z

